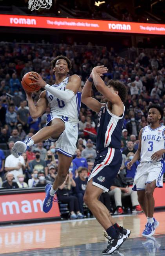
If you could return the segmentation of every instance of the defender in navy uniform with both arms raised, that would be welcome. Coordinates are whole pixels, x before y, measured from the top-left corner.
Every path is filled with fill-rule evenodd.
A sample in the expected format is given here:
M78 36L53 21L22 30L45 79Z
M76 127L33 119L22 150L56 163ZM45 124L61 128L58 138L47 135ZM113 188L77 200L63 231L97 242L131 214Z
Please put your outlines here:
M123 229L114 222L99 198L103 191L109 191L121 167L121 131L125 116L123 102L127 98L127 89L125 85L112 80L106 86L100 77L105 71L107 73L107 68L104 66L94 67L82 91L82 102L99 113L97 157L88 179L84 202L108 234L106 236L109 239L108 246L103 254L111 254L128 238L130 230ZM107 99L107 104L100 103L91 97L92 82Z

